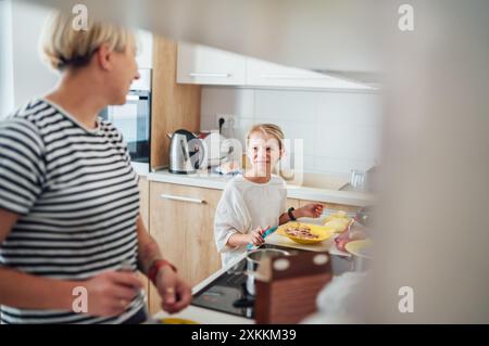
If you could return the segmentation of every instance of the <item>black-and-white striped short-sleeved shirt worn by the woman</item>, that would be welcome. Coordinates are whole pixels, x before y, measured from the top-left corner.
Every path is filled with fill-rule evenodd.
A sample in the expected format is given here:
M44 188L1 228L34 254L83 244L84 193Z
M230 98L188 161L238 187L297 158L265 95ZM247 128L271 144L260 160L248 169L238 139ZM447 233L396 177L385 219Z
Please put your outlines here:
M121 133L93 130L38 99L0 121L0 208L18 220L0 243L0 266L59 280L137 267L139 190ZM118 323L116 318L2 306L2 323Z

